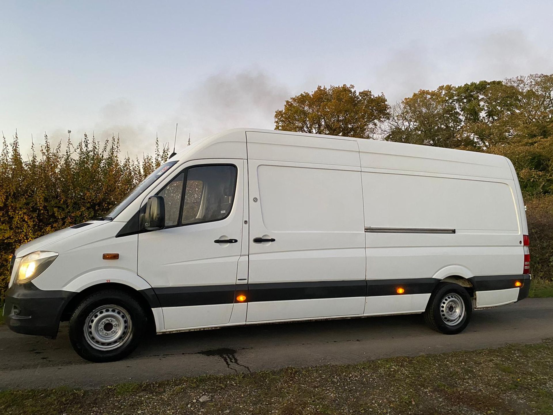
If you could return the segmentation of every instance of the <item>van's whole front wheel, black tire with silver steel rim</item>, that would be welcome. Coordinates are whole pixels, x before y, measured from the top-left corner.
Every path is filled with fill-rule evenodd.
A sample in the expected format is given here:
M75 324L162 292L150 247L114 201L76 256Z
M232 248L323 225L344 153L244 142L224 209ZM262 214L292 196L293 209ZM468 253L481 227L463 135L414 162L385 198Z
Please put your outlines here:
M95 314L91 314L93 312ZM147 326L148 317L132 295L117 289L105 289L89 295L75 309L69 320L69 339L83 359L112 362L123 359L136 349L147 332ZM109 329L109 333L104 328ZM102 339L95 337L95 333L116 337Z

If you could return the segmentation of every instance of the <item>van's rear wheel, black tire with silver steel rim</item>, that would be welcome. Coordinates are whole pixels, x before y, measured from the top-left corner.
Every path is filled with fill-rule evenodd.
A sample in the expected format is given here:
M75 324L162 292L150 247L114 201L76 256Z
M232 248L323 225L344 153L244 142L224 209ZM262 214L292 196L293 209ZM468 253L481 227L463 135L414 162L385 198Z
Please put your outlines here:
M456 314L456 307L461 307ZM430 296L424 319L434 330L444 334L457 334L465 330L472 315L472 300L467 290L453 283L440 283ZM455 316L456 318L451 319Z

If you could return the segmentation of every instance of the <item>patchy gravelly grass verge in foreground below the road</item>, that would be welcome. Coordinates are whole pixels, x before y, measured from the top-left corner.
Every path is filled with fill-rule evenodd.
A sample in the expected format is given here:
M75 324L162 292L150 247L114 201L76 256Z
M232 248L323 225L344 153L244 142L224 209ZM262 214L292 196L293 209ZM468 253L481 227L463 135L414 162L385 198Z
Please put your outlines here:
M0 392L2 414L553 414L553 341L356 365Z

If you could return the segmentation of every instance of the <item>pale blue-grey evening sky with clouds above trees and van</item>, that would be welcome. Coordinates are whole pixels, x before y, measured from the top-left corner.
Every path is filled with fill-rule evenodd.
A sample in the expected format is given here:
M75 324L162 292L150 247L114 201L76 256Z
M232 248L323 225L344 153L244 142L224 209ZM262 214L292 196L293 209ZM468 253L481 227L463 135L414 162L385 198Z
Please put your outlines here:
M31 139L155 136L176 150L274 128L287 98L353 84L419 89L553 73L551 1L0 0L0 130Z

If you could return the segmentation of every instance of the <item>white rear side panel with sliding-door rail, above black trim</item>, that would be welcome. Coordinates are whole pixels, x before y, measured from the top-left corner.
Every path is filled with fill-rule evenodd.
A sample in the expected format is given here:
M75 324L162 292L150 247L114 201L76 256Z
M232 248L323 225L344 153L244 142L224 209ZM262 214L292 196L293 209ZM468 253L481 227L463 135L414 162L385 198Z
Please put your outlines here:
M370 140L358 144L367 279L522 272L525 215L504 157Z

